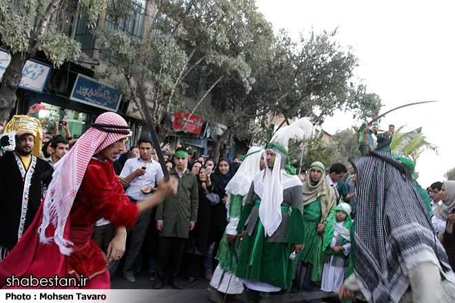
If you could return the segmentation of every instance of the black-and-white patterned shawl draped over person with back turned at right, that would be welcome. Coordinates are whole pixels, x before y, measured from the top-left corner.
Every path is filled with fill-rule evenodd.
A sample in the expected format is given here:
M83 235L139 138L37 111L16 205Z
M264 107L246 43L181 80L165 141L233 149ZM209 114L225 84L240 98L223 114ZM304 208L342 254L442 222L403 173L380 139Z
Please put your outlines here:
M370 152L354 160L357 171L354 273L368 302L398 302L408 270L433 262L455 275L438 241L425 203L395 158Z

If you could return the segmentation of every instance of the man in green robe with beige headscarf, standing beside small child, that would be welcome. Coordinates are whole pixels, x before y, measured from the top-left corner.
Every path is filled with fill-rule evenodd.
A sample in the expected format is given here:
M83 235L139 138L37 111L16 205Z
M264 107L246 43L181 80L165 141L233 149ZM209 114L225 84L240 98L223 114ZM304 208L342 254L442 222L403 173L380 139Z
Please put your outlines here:
M324 265L323 233L325 225L333 220L336 208L335 191L327 182L324 173L325 167L321 162L310 165L307 180L303 183L303 234L304 243L298 255L296 278L291 291L296 293L302 290L304 299L313 291L314 281L321 281ZM301 285L301 271L303 265L307 271Z

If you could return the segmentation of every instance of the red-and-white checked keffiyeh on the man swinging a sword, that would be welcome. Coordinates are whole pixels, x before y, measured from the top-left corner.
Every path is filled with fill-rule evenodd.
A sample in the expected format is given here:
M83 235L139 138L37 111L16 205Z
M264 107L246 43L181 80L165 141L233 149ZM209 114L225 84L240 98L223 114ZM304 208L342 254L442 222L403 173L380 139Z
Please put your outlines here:
M128 123L113 112L105 112L99 115L95 123L128 127ZM116 129L115 127L108 127L108 129L125 131L125 129ZM65 239L63 234L88 163L94 154L128 136L130 134L103 132L91 127L77 140L70 151L54 165L55 171L52 174L52 181L43 202L43 221L38 229L40 242L47 244L52 240L51 237L45 236L45 229L52 222L55 227L54 242L59 245L61 253L70 255L73 243Z

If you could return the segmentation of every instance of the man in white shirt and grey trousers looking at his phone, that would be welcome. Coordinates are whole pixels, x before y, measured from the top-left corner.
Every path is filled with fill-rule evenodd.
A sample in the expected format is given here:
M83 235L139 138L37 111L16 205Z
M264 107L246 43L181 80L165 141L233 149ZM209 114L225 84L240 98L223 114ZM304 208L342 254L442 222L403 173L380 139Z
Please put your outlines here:
M142 136L139 138L138 145L140 156L126 160L119 176L120 182L126 188L125 194L131 202L150 197L163 178L161 166L152 158L152 139L149 136ZM130 247L123 265L123 277L131 283L136 282L133 270L134 260L141 250L151 216L152 209L141 214L130 231Z

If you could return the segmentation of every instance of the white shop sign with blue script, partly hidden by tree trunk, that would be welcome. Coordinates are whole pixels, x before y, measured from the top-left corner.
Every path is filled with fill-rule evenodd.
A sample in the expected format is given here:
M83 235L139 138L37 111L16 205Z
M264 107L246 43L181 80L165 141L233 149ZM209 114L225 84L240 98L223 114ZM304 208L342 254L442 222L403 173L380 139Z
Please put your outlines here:
M0 48L0 82L6 67L10 64L11 56ZM43 92L45 83L48 82L50 70L52 66L41 63L39 61L29 59L22 69L22 79L19 87L24 90L32 90L34 92Z

